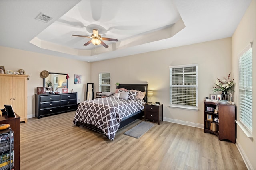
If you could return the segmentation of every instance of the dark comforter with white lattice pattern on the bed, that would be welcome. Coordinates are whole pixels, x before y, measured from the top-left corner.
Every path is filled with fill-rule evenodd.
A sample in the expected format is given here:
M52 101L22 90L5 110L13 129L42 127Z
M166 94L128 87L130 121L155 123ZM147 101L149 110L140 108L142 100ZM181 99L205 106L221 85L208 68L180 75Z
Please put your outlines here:
M92 124L110 140L114 140L122 119L144 109L144 103L142 99L124 100L114 97L84 101L79 104L73 122Z

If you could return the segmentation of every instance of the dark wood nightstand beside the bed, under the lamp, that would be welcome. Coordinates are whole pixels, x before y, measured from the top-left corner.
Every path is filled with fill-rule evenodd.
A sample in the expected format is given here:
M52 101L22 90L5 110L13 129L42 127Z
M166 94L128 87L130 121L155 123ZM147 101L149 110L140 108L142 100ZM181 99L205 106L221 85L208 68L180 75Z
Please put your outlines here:
M152 105L146 103L145 107L145 121L146 119L158 121L158 125L160 125L160 120L163 121L163 104Z

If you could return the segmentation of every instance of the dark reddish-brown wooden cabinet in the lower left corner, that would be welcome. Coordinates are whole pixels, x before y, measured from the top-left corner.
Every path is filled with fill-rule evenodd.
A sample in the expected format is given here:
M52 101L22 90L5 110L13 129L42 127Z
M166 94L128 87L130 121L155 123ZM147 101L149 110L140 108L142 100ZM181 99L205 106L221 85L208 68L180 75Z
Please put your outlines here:
M9 124L14 132L14 170L20 170L20 116L5 118L0 116L0 124Z

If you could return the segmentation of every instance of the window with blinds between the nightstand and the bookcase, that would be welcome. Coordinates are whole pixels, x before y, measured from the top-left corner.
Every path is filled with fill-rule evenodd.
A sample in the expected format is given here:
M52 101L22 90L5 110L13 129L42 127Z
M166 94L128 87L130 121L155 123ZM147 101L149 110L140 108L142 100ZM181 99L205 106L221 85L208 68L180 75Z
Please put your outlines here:
M169 106L198 110L198 64L169 68Z

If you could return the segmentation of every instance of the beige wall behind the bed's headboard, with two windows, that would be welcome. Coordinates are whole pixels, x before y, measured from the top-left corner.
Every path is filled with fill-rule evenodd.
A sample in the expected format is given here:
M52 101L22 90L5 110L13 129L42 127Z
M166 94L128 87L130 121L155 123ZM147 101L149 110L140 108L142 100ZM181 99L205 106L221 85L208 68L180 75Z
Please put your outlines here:
M164 104L164 121L204 127L204 100L212 94L216 78L232 71L231 38L120 57L91 63L94 92L98 91L98 74L110 72L110 90L115 83L148 83L154 90L152 102ZM174 109L169 104L169 66L198 63L198 111Z

